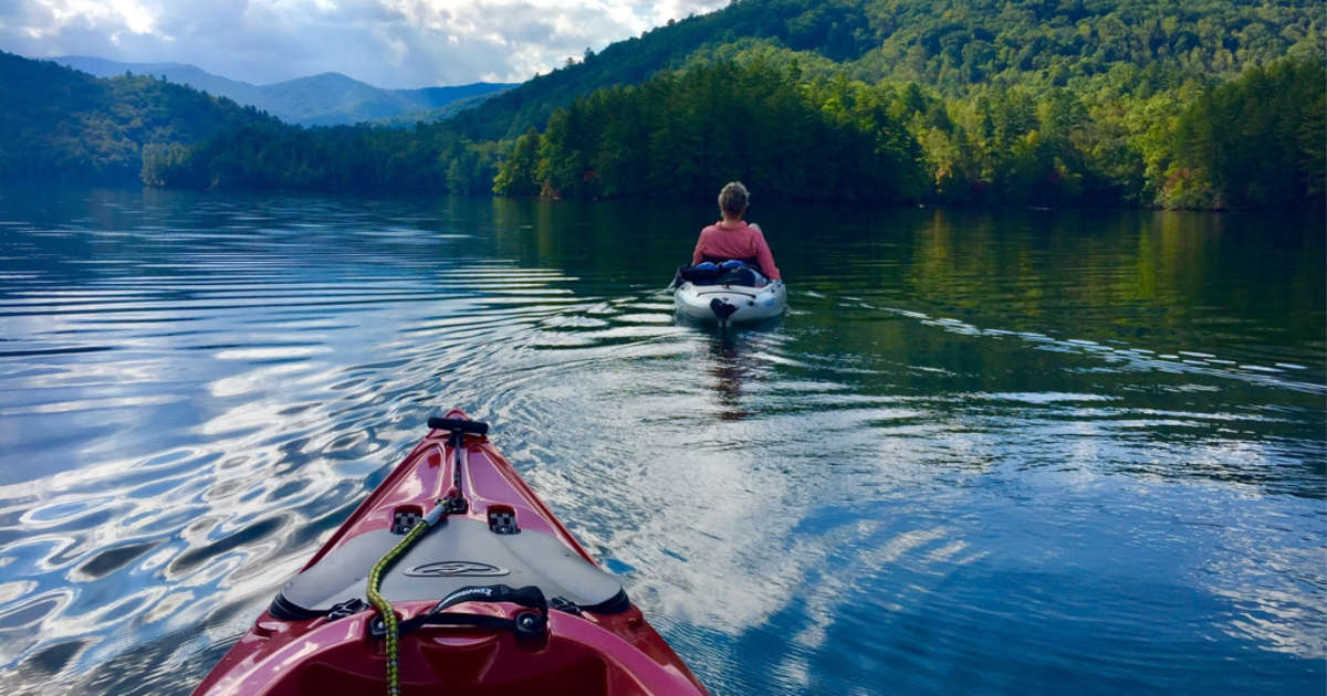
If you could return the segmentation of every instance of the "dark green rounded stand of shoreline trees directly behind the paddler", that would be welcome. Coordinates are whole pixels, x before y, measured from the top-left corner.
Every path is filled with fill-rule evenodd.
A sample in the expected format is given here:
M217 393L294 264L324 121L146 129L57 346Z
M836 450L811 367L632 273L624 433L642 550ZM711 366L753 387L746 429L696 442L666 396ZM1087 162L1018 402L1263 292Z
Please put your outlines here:
M896 102L888 87L800 84L760 62L695 66L555 111L541 138L516 142L494 190L709 198L740 179L770 198L916 199L922 152Z

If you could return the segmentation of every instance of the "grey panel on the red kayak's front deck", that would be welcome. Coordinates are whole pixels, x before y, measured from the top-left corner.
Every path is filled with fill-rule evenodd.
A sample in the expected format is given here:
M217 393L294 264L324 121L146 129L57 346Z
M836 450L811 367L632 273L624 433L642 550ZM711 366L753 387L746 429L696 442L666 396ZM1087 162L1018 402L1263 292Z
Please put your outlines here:
M376 529L345 541L313 567L291 579L269 611L284 620L328 614L364 599L369 573L401 536ZM486 522L447 518L415 541L382 577L380 594L391 602L441 599L471 585L533 585L549 599L561 597L585 611L616 614L630 607L616 577L585 561L561 541L525 530L495 534Z

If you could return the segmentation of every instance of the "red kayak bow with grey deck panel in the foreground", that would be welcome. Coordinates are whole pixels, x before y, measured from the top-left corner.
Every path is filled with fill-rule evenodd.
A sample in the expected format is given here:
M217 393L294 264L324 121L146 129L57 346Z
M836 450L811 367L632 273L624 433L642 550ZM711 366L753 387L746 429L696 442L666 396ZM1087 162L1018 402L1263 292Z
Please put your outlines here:
M702 695L454 410L277 594L195 695Z

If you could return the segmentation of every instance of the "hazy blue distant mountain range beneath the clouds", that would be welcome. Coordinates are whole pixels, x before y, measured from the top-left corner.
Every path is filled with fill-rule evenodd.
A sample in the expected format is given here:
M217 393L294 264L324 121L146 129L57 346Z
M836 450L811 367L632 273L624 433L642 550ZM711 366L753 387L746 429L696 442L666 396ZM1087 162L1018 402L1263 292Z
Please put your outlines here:
M377 121L409 125L438 121L515 85L475 82L454 87L381 89L341 73L322 73L272 85L253 85L215 76L179 62L118 62L89 56L50 58L97 77L127 73L163 77L170 82L255 106L288 123L337 126Z

